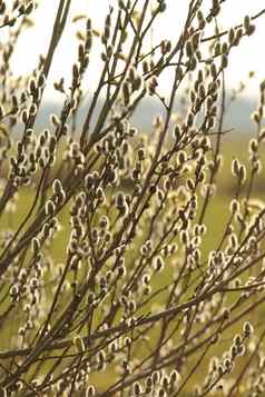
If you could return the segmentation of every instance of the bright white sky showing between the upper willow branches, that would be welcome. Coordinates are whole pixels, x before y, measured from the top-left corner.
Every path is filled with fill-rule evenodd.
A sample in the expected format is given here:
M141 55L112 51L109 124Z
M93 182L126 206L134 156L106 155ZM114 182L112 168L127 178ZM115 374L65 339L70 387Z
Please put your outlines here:
M62 40L56 52L49 85L47 88L47 97L56 100L56 93L52 89L53 82L60 77L67 76L70 78L72 63L77 54L77 38L76 32L78 24L72 24L71 19L79 13L86 13L92 20L92 26L101 30L105 16L110 4L115 4L117 0L72 0L70 9L70 18L66 27ZM140 0L139 3L144 3ZM156 0L154 0L156 2ZM159 27L154 28L153 42L160 42L163 39L169 39L176 42L181 30L183 21L187 12L188 0L167 0L167 10L159 18ZM12 59L12 69L14 75L30 73L33 67L38 64L40 53L46 53L49 44L49 39L52 31L52 24L56 17L56 11L59 0L40 0L40 6L35 11L35 27L23 32L17 50ZM212 0L204 0L204 4L208 8ZM254 16L259 10L265 8L264 0L226 0L223 4L223 11L219 18L219 27L223 29L242 23L246 14ZM79 22L80 23L80 22ZM99 41L98 41L99 42ZM229 69L226 72L227 85L229 88L237 88L241 80L246 80L251 70L256 72L256 79L252 79L247 83L245 96L256 97L258 92L258 83L265 79L265 14L256 22L256 32L249 38L244 38L238 48L233 49ZM89 76L87 85L92 90L96 77L98 76L98 56L100 46L96 46L92 53L92 62L89 66ZM161 90L168 92L170 79L165 76L161 80Z

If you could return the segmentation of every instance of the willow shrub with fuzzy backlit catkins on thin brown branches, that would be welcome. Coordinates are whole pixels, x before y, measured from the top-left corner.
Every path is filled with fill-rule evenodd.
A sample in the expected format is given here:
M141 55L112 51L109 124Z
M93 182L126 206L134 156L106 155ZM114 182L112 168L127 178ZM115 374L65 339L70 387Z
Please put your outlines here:
M1 395L263 395L265 206L253 196L263 82L245 163L230 165L228 217L216 208L208 226L205 219L229 133L229 57L264 10L223 31L224 0L189 0L180 36L154 47L165 0L115 1L101 32L77 16L71 85L55 83L65 103L39 131L70 3L58 1L47 53L31 76L17 78L10 63L35 4L0 1ZM94 46L98 86L77 128ZM131 116L147 97L161 116L143 133ZM209 246L216 222L222 237Z

